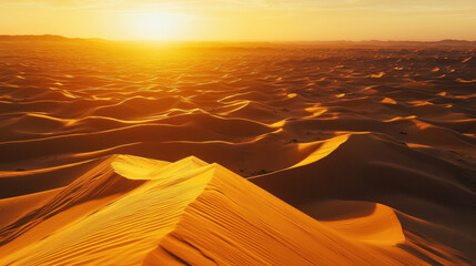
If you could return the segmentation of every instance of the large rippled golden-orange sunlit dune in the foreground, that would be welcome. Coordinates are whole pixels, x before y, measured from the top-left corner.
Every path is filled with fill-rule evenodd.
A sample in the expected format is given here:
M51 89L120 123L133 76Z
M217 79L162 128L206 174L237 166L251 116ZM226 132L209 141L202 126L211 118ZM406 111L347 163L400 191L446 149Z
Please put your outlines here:
M365 219L317 222L193 156L166 163L114 155L0 232L8 239L0 264L425 264L398 247L405 239L391 208L377 205ZM378 229L365 233L373 224L387 225L385 241Z

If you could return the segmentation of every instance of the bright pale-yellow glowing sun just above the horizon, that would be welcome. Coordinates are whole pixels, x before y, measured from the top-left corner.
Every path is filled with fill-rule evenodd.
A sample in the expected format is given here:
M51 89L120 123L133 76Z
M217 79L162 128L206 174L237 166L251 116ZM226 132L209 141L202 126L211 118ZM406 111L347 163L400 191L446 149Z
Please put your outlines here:
M189 18L181 13L141 12L128 16L133 39L176 40L183 38Z

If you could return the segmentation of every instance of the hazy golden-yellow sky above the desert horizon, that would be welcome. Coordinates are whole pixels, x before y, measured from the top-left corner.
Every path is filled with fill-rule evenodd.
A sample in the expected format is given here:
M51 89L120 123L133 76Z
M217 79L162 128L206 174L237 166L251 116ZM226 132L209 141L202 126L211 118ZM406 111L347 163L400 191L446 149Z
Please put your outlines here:
M0 34L111 40L476 40L476 0L0 0Z

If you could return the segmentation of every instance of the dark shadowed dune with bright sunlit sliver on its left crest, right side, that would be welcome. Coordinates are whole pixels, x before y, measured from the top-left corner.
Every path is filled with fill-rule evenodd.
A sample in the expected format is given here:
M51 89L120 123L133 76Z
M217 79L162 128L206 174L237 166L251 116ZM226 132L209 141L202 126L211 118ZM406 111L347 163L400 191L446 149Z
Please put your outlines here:
M469 171L386 135L343 134L300 145L314 145L314 151L293 166L249 180L293 206L313 198L367 201L397 194L462 206L476 198L464 186ZM418 188L422 184L426 190Z

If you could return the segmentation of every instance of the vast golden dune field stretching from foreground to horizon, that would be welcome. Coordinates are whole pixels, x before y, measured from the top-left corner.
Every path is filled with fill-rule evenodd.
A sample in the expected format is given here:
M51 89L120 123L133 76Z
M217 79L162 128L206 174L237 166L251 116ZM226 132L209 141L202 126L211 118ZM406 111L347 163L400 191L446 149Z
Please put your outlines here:
M476 43L0 38L0 265L475 265Z

